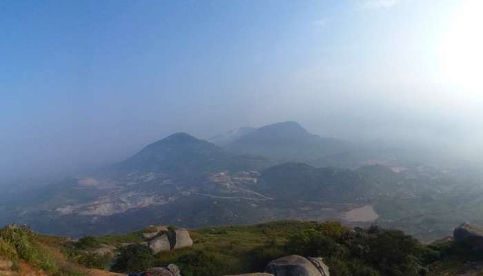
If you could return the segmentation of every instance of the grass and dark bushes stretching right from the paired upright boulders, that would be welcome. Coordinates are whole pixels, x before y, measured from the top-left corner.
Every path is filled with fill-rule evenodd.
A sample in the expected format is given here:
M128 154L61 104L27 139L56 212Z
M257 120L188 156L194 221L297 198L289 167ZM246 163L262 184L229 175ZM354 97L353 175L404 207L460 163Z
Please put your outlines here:
M427 264L439 256L401 231L348 230L335 221L275 221L191 234L193 248L161 253L157 264L175 263L184 275L230 275L263 271L273 259L297 254L324 257L335 276L417 276L425 275Z

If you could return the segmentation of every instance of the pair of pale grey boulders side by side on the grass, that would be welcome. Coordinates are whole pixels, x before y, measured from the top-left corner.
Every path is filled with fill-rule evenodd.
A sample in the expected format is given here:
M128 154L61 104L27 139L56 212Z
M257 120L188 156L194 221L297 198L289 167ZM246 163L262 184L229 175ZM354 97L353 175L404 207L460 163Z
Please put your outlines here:
M149 237L152 239L148 242L148 246L155 254L193 246L193 239L191 239L188 230L184 228L176 230L159 230L156 235L149 235Z

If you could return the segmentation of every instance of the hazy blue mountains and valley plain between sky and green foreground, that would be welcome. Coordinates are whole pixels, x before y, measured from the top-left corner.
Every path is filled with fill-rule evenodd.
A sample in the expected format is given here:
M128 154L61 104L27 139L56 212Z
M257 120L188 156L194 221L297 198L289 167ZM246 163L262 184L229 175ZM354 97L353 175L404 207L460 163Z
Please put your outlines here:
M351 143L340 149L354 152L344 155L350 164L341 166L336 155L338 166L320 168L311 164L313 147L333 141L326 144L293 122L249 130L250 143L259 144L249 152L233 153L177 133L90 175L9 195L0 204L0 223L79 237L125 233L153 223L196 228L338 220L348 226L397 228L428 242L449 235L465 220L483 224L476 215L483 209L478 174L409 163L391 152L371 157L362 145ZM244 135L233 139L225 137L223 145L248 141ZM281 154L293 161L275 161L257 150L268 145L291 148ZM306 159L300 161L302 156ZM366 159L358 161L362 156Z

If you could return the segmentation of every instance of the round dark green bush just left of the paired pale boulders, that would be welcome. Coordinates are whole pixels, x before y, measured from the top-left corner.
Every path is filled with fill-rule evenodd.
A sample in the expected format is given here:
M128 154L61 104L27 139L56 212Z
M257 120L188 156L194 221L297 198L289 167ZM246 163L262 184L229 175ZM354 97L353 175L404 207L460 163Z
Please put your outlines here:
M121 273L141 272L152 267L154 262L155 257L151 248L141 244L130 244L121 248L112 268Z

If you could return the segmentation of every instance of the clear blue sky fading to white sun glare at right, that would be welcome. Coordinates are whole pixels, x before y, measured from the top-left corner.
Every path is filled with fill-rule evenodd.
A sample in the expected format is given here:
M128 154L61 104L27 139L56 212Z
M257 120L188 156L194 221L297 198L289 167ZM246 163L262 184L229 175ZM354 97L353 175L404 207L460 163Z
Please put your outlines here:
M4 1L2 180L288 120L478 158L482 12L480 0Z

